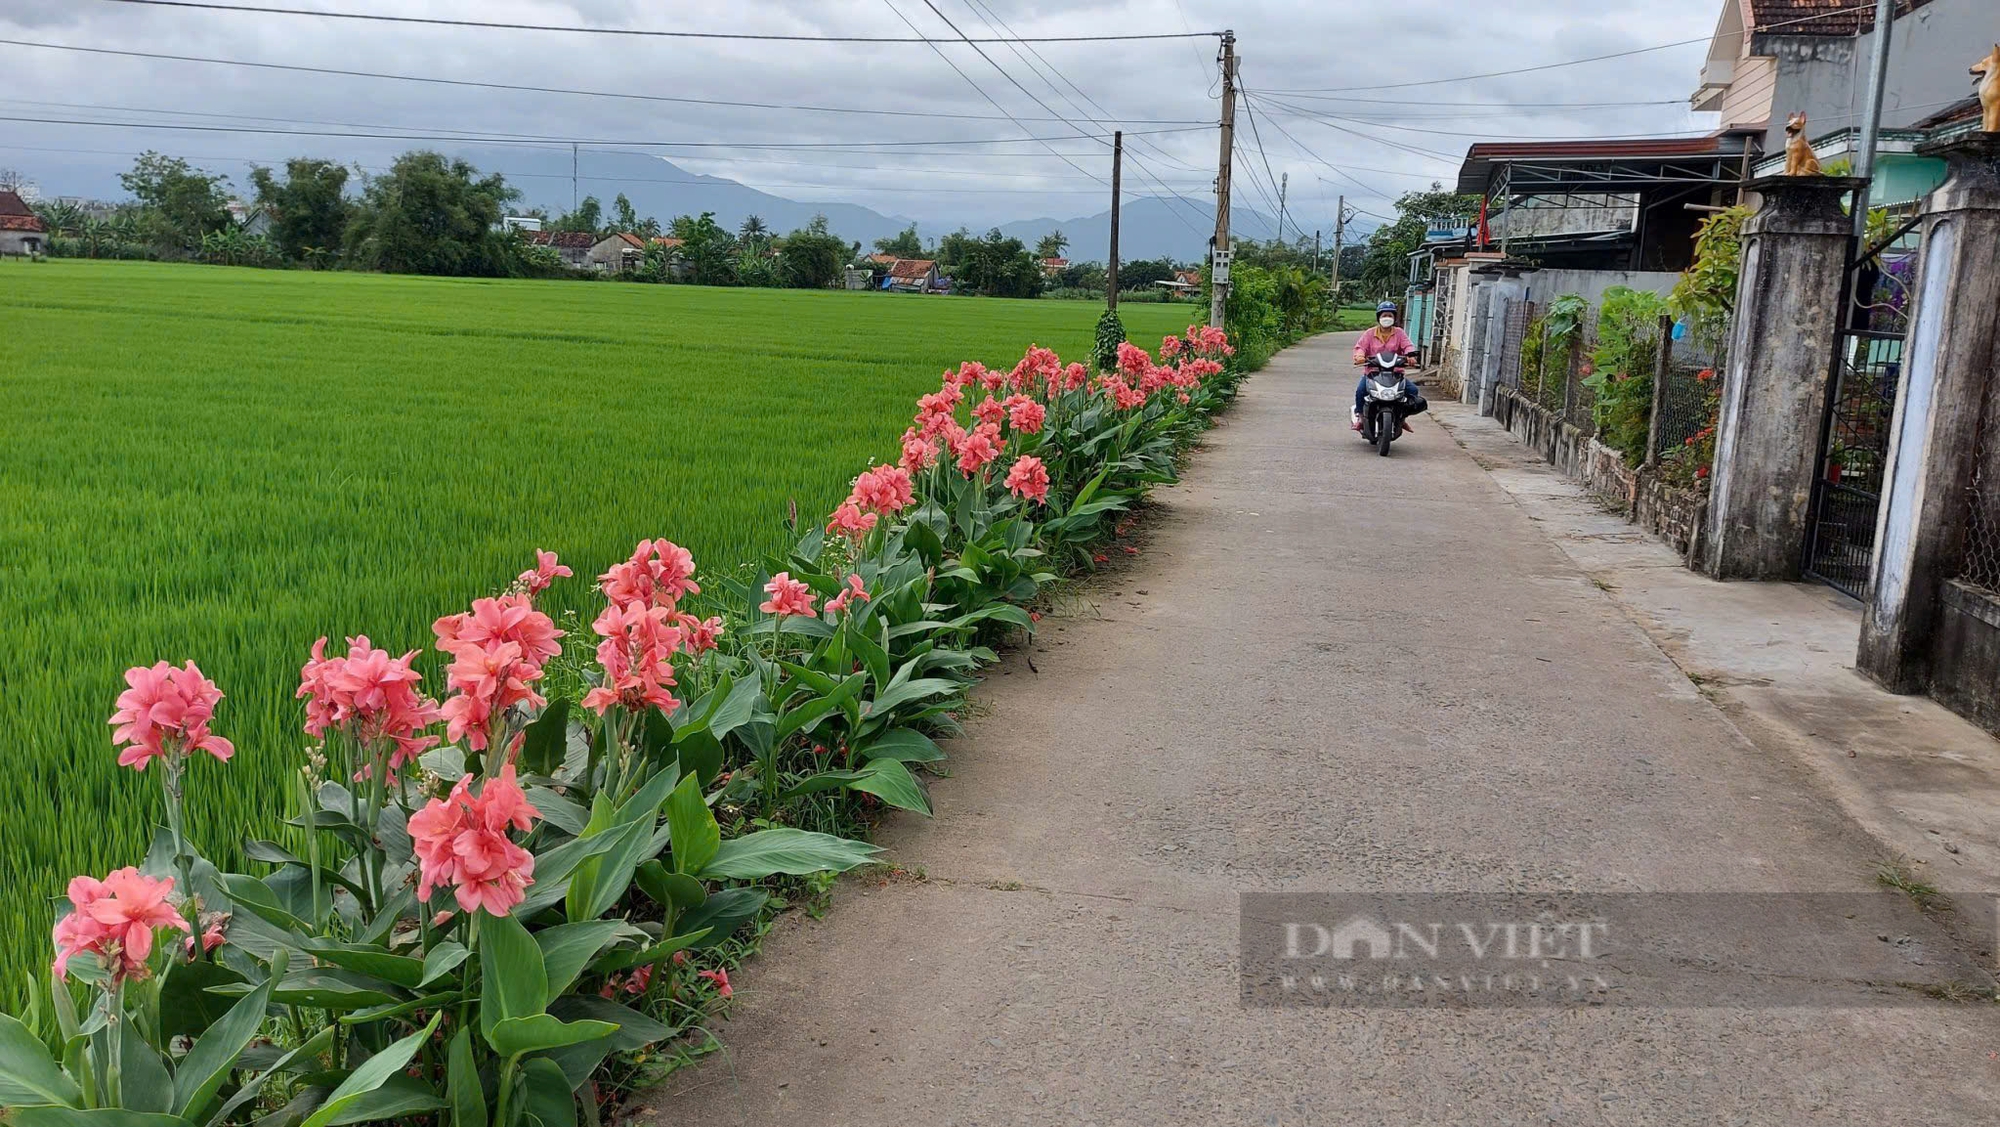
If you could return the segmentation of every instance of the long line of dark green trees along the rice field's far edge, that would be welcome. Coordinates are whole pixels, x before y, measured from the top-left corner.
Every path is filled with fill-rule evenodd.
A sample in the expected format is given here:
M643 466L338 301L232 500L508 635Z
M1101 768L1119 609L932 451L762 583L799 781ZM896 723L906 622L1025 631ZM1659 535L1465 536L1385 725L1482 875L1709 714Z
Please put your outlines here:
M184 158L146 152L118 180L130 202L110 212L72 202L38 206L50 228L52 254L474 278L586 274L566 266L552 246L502 224L504 216L524 216L540 220L550 232L594 238L630 232L648 240L640 266L620 274L640 282L826 288L838 284L852 264L870 268L876 280L884 270L870 262L862 244L828 230L824 216L780 236L758 216L736 230L718 224L712 212L662 224L640 216L622 192L608 208L586 196L562 214L518 210L522 194L504 176L482 174L466 160L430 150L406 152L380 174L322 158L294 158L282 168L252 166L248 188L254 194L238 210L246 206L250 216L268 220L254 234L232 214L236 200L228 176ZM678 246L650 242L656 236L670 236ZM912 224L874 240L876 254L934 260L960 294L1102 294L1106 280L1100 264L1066 264L1054 274L1044 268L1044 260L1062 258L1066 248L1068 238L1060 230L1044 236L1032 252L998 228L984 236L960 228L926 246ZM1120 290L1146 292L1174 274L1176 264L1168 258L1126 262L1120 266Z

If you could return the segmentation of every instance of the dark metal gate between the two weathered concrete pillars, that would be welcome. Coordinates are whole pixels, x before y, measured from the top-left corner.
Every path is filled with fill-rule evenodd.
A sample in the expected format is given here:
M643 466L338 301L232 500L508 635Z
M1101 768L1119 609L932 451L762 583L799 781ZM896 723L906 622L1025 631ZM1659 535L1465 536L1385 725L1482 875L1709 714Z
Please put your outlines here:
M1918 222L1910 218L1848 268L1834 334L1802 569L1856 599L1866 599L1874 585L1876 512L1910 334L1916 282L1910 232Z

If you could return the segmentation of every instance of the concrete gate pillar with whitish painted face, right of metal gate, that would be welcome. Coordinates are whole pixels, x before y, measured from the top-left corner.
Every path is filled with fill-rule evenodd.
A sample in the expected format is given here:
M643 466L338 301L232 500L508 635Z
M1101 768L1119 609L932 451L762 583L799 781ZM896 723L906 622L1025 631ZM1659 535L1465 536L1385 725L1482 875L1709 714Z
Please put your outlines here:
M1874 595L1856 667L1900 693L1930 683L1946 575L1962 564L1978 434L2000 394L2000 134L1920 148L1950 176L1924 202L1922 258L1876 518Z

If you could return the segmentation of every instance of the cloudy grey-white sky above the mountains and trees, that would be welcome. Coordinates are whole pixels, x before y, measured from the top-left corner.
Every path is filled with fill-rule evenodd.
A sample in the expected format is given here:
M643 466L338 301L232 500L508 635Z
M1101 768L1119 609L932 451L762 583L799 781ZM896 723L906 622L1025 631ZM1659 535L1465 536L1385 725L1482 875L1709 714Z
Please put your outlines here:
M1292 218L1308 230L1332 226L1332 202L1342 192L1366 212L1388 214L1388 200L1400 192L1436 178L1450 182L1466 146L1482 138L1706 132L1712 116L1686 110L1704 56L1700 44L1498 78L1458 78L1700 40L1714 30L1720 8L1720 0L220 2L812 36L952 36L946 20L974 38L1232 28L1250 110L1250 116L1238 114L1238 200L1274 210L1272 182L1288 174ZM270 164L310 154L382 168L406 148L452 148L414 138L480 136L506 138L510 148L502 152L520 158L518 168L502 166L500 172L514 174L510 178L530 202L554 208L568 204L570 184L548 168L556 154L566 156L568 142L586 148L670 142L624 148L794 200L838 200L932 224L980 226L1100 212L1106 146L1078 134L1108 132L1112 126L1104 122L1128 130L1128 196L1206 198L1216 164L1214 38L1034 44L1030 52L1016 44L974 50L966 44L680 40L114 0L0 0L0 40L12 40L0 44L0 76L6 76L0 82L0 118L6 118L0 120L0 166L26 172L48 196L116 196L116 172L146 148L188 156L244 184L250 160ZM92 54L24 42L624 98ZM1452 82L1408 86L1438 78ZM1250 128L1252 116L1256 128ZM298 130L358 136L298 136ZM586 192L610 198L618 188L594 184Z

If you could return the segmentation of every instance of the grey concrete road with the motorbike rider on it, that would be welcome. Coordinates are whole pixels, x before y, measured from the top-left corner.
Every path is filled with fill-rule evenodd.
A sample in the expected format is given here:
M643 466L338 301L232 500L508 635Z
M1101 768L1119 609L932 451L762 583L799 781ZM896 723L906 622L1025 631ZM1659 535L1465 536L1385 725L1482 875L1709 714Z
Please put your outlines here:
M1240 1001L1248 891L1874 889L1874 841L1466 452L1348 434L1350 340L1250 382L1140 556L980 691L936 821L888 827L910 875L780 927L640 1121L2000 1121L1994 1005L1882 1005L1968 955L1900 897L1830 941L1842 1005Z

